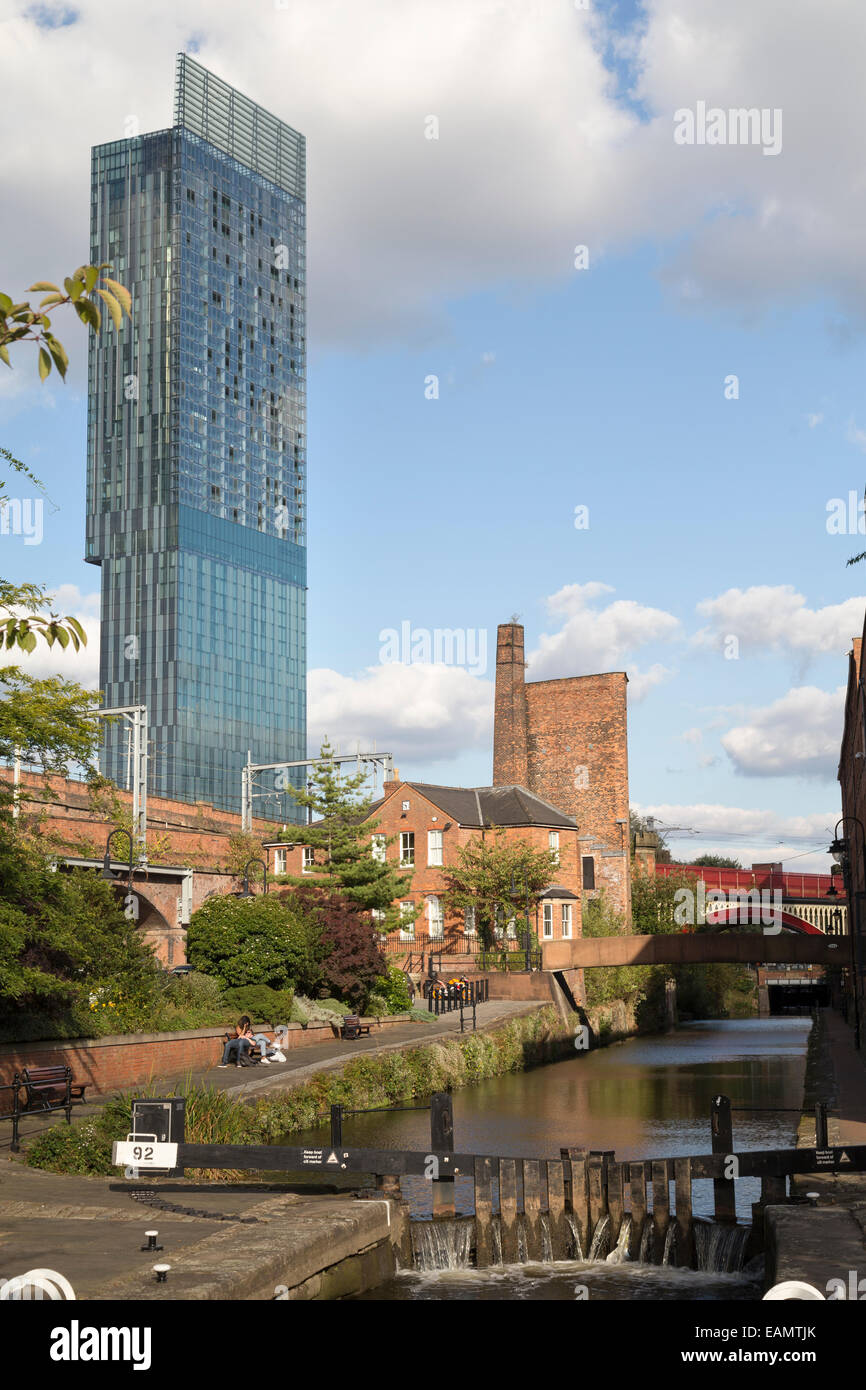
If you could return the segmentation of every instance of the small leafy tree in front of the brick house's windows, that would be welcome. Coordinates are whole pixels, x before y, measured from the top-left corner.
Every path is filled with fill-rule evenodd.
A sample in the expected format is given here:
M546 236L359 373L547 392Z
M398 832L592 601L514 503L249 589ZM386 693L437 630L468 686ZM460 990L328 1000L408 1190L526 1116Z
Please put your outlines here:
M534 849L527 840L510 840L506 831L473 835L445 873L448 912L473 908L485 947L493 944L498 919L510 922L538 903L556 876L559 862L549 849Z

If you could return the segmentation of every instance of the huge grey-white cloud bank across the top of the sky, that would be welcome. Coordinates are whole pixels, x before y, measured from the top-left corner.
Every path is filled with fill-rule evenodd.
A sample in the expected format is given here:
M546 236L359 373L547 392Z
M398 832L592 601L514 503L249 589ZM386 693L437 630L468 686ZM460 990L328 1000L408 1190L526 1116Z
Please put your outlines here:
M598 7L524 0L152 0L120 25L117 4L78 0L51 29L44 10L4 24L15 292L85 259L88 149L131 118L170 124L186 47L309 138L318 342L427 342L449 299L575 274L575 243L596 264L652 240L694 306L828 296L866 314L860 0L820 22L785 0L653 0L624 35ZM631 61L645 118L617 100L607 49ZM698 100L781 108L781 156L677 146L674 111Z

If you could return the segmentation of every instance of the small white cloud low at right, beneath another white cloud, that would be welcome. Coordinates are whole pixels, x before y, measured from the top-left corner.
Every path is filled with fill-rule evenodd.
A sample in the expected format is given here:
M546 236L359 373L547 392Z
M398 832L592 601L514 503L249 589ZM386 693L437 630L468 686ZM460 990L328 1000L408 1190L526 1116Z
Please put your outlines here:
M822 691L799 685L748 723L730 728L721 746L745 777L820 777L833 780L840 759L845 687Z

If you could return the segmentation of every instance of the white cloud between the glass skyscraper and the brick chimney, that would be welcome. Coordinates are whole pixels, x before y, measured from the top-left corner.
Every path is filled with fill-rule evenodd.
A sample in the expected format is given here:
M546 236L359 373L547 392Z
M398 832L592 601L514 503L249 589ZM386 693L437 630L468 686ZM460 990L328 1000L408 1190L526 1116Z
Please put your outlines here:
M350 752L392 752L403 773L418 762L487 748L493 733L493 685L461 667L414 663L371 666L360 676L318 669L307 678L307 739L316 753L327 737Z

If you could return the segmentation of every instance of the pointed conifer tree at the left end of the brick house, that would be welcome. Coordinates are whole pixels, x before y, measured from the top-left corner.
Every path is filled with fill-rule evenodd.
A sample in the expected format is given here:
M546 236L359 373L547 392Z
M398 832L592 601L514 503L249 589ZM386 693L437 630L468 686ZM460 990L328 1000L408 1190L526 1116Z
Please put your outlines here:
M339 892L361 912L377 913L381 931L406 926L410 920L400 916L393 903L403 897L411 883L411 870L400 873L393 859L377 858L373 852L371 835L379 821L370 820L373 799L361 796L366 781L363 773L341 776L334 751L325 742L320 760L310 774L310 788L292 790L299 806L310 810L317 819L313 824L297 826L281 831L279 838L295 845L309 845L314 851L314 863L303 878L286 876L285 883L309 887L317 883L331 892ZM381 835L379 845L386 851L396 835Z

